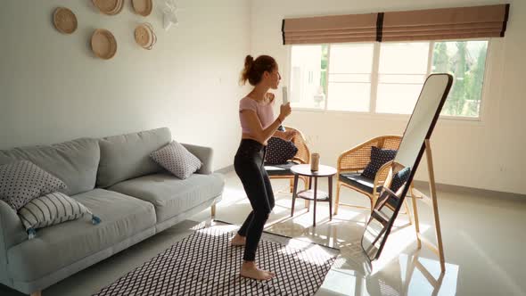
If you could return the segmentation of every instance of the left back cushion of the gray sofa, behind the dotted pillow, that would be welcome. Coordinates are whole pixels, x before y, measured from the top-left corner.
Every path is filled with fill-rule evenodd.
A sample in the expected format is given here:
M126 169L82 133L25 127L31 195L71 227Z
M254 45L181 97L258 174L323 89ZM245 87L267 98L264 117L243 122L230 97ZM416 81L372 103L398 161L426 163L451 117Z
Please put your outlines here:
M0 151L0 165L13 160L29 160L61 179L66 184L61 192L68 195L95 188L99 159L99 144L91 138Z

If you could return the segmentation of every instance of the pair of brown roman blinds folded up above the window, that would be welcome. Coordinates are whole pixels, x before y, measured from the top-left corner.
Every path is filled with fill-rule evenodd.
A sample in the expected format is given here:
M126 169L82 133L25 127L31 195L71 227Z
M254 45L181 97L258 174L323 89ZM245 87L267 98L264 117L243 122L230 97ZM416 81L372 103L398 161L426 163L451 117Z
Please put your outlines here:
M284 45L504 37L509 4L284 19Z

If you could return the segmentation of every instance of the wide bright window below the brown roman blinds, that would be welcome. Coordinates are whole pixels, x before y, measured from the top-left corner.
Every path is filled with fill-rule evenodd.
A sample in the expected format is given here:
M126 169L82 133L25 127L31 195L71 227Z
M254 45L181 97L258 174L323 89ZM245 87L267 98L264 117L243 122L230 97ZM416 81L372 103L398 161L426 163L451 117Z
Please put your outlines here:
M487 40L292 45L293 107L410 114L425 78L454 84L441 115L479 117Z

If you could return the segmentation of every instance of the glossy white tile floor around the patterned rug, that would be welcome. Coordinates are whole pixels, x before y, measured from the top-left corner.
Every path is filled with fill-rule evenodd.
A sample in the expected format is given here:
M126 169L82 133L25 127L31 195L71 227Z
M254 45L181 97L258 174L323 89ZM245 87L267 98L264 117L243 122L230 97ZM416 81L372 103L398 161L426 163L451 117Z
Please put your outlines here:
M306 212L301 200L296 203L294 217L289 217L292 200L286 193L288 181L273 180L272 184L276 206L267 223L267 231L341 250L316 295L526 295L523 251L526 198L439 192L446 273L440 275L440 264L434 253L416 249L415 231L412 226L405 226L405 215L400 215L398 227L390 235L381 258L374 263L373 271L368 272L359 246L366 210L341 208L329 221L328 204L320 202L316 227L313 227L312 210ZM322 180L319 187L326 188L326 182ZM342 190L341 199L368 205L364 195L346 189ZM226 174L225 193L218 203L216 218L239 225L250 210L239 179L233 172ZM433 239L431 212L423 206L419 210L424 235ZM81 296L98 292L190 234L196 224L210 223L210 210L202 211L192 220L54 284L43 295ZM0 286L0 295L18 296L21 293Z

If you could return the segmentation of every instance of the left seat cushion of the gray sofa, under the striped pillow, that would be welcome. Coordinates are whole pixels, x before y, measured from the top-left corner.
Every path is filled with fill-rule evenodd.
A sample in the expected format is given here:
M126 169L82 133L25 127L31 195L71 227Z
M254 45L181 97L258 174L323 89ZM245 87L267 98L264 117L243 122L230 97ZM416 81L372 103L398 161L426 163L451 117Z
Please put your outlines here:
M127 240L155 225L151 203L131 196L95 189L72 196L102 219L86 227L78 219L42 228L36 238L9 249L9 269L15 281L30 282L70 266L80 259Z

